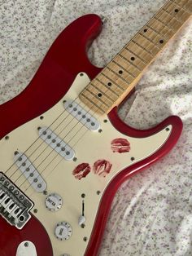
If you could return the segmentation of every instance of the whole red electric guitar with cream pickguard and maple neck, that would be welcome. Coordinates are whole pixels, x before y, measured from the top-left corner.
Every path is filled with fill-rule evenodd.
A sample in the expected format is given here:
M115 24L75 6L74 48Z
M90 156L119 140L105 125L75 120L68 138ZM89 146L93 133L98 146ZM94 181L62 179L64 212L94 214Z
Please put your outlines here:
M1 256L98 254L117 188L181 135L179 117L136 130L117 108L191 10L191 0L168 1L105 68L86 55L101 19L75 20L0 106Z

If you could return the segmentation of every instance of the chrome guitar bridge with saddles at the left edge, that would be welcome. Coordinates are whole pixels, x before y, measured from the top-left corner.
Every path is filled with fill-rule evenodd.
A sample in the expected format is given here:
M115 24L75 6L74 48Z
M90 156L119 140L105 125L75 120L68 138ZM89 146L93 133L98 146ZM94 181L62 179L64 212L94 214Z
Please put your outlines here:
M12 226L22 229L31 218L33 202L0 172L0 214Z

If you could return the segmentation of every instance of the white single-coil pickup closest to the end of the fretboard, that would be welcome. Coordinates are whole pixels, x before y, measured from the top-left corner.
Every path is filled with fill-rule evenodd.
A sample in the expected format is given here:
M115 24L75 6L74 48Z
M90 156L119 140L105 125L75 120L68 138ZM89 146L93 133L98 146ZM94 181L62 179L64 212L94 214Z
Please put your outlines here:
M68 113L72 114L82 125L87 127L89 130L98 130L100 124L96 118L94 118L88 111L81 107L81 105L76 104L75 101L67 100L64 103L64 108Z

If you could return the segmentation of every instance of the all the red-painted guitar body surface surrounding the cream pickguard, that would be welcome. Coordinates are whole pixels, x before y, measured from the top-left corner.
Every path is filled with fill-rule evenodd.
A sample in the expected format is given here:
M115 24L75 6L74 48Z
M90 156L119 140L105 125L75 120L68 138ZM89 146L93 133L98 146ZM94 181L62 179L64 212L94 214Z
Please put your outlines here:
M98 15L85 15L70 24L59 35L48 51L33 80L29 83L29 86L20 95L0 106L0 139L11 132L11 130L41 115L41 113L44 113L56 104L72 85L77 73L85 72L92 79L101 71L101 68L94 67L89 63L86 55L87 47L100 30L101 20ZM112 125L124 135L141 138L155 134L159 130L164 129L165 126L168 126L168 124L172 124L172 133L158 152L122 170L111 181L103 195L85 256L98 254L111 201L120 184L137 173L137 171L163 157L177 142L182 130L182 122L179 117L168 117L159 126L150 130L136 130L124 124L118 117L116 110L116 108L112 109L108 117ZM15 255L15 249L11 248L27 239L26 237L36 244L38 256L53 255L46 230L41 227L37 219L33 217L22 231L18 231L0 218L1 256Z

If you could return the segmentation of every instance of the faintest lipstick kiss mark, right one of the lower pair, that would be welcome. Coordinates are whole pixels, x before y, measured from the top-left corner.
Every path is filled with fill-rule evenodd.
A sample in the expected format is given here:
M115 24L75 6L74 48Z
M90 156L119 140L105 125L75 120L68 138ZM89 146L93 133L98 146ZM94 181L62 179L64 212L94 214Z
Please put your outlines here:
M94 162L94 174L105 177L111 171L112 164L107 160L98 160Z

